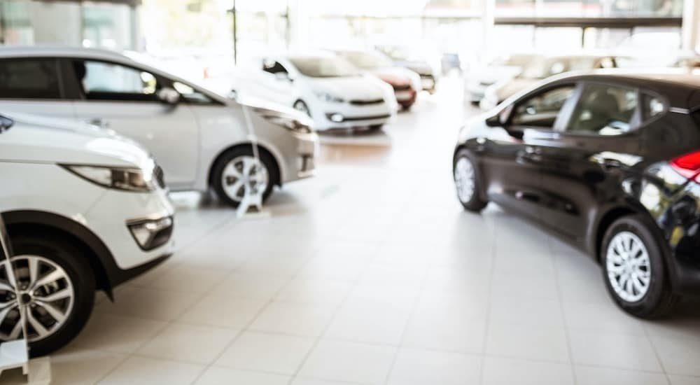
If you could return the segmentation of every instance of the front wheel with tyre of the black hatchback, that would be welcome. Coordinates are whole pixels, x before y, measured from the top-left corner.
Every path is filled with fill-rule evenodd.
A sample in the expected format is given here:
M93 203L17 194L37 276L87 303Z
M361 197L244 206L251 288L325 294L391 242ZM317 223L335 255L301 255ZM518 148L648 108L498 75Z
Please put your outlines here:
M468 151L461 149L457 152L452 171L459 202L468 211L475 213L482 211L489 201L482 200L481 178Z

